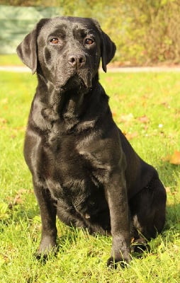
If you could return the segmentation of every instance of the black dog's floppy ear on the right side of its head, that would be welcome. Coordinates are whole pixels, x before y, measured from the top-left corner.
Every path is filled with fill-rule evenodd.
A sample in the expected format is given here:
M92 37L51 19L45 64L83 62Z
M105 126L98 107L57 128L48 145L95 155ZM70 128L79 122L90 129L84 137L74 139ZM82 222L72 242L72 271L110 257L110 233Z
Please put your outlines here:
M116 45L114 42L102 31L102 40L101 40L101 59L103 71L107 71L106 65L113 59L116 52Z

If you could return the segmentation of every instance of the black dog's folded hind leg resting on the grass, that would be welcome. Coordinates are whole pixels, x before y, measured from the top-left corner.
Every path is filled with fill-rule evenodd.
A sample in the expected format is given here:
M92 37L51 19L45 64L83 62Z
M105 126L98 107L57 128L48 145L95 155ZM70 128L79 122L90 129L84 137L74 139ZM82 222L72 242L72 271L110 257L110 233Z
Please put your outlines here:
M130 213L132 219L132 237L135 243L145 244L145 239L155 238L164 227L167 195L159 178L151 180L132 199Z

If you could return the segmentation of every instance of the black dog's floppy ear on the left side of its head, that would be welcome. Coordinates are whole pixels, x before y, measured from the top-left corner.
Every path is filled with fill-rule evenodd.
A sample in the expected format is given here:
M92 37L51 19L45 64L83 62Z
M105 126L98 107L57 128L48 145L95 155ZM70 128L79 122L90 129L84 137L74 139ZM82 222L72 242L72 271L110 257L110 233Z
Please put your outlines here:
M38 46L37 46L37 37L38 30L42 27L43 23L47 21L47 18L42 18L35 28L26 35L23 41L18 45L16 52L18 56L21 58L22 62L26 64L31 70L32 73L35 74L38 65Z

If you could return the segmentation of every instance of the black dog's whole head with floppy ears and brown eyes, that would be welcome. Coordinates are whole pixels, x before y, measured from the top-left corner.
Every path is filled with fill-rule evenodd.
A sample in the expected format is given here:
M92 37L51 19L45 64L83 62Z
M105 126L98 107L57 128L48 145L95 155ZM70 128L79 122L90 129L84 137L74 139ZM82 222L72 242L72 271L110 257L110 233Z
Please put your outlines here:
M102 59L103 71L116 46L91 18L57 17L39 21L17 47L18 56L55 86L91 88Z

